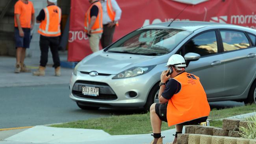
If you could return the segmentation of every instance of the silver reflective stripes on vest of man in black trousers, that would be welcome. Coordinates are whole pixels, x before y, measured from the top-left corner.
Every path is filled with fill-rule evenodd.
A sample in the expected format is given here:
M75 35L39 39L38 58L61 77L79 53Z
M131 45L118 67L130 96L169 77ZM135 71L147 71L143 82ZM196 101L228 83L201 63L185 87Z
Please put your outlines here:
M42 30L41 28L39 28L39 31L45 33L45 34L49 34L49 35L54 35L54 34L58 34L60 33L60 27L58 26L58 31L49 31L49 23L50 23L50 14L49 14L49 11L48 11L48 8L44 8L45 10L45 18L46 18L46 27L45 27L45 30ZM59 23L60 23L60 20L61 20L61 9L59 9ZM58 24L59 24L58 23Z

